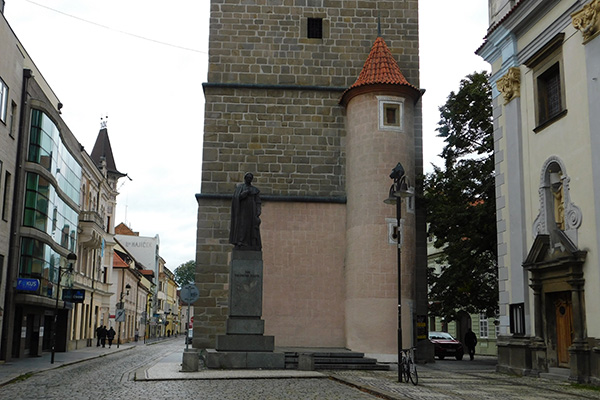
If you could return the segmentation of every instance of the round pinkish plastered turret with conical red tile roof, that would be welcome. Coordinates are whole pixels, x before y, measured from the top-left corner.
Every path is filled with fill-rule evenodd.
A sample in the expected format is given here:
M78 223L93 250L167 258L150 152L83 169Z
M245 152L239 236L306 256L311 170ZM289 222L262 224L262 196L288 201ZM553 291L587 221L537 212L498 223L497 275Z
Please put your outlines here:
M384 222L390 215L390 206L383 202L390 181L382 177L400 162L408 186L414 185L413 118L420 97L421 92L406 80L385 41L378 37L358 79L341 99L347 116L345 267L350 348L373 341L378 351L385 352L396 343L398 292L393 287L398 255L390 244L397 244L397 239L382 240L388 231ZM409 333L416 315L414 200L404 200L401 207L402 326ZM388 218L388 224L394 222ZM404 347L413 344L411 335L406 336ZM375 344L371 348L375 349Z

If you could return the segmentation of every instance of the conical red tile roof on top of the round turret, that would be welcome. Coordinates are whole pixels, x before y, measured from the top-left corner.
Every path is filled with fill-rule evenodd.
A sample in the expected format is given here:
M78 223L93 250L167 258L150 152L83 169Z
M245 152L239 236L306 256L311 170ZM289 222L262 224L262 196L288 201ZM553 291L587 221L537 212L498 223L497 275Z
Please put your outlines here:
M358 79L344 92L340 103L347 103L349 98L346 98L346 94L352 89L370 85L405 86L411 88L411 90L419 91L418 88L406 80L392 52L381 37L375 40Z

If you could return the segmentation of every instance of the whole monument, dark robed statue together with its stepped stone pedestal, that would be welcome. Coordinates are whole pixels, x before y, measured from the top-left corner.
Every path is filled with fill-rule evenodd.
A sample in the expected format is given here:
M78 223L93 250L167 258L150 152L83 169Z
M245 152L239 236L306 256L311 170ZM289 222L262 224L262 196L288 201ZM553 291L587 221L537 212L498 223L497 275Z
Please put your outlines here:
M247 173L236 186L231 206L229 241L235 246L229 271L229 316L226 334L207 349L208 368L283 369L284 353L274 352L275 338L265 336L262 317L263 261L260 242L260 191Z

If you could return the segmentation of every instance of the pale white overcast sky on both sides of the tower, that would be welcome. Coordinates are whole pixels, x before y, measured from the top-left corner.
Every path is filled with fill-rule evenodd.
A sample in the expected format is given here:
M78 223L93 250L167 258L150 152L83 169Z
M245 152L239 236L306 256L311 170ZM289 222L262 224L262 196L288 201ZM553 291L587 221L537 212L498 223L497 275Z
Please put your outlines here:
M438 107L460 80L489 66L474 54L487 0L421 0L425 170L443 142ZM120 180L116 223L160 236L172 271L195 258L209 0L6 0L4 15L92 151L100 118ZM365 54L365 59L368 54Z

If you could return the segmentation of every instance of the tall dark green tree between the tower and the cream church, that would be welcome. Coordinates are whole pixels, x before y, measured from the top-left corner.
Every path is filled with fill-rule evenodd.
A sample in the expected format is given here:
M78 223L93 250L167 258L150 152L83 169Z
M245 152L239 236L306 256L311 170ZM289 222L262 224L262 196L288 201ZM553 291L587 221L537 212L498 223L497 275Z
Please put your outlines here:
M445 168L425 178L429 234L442 248L441 271L429 270L430 313L455 320L457 313L498 308L496 202L492 96L486 72L460 82L440 107L438 136L446 143Z

